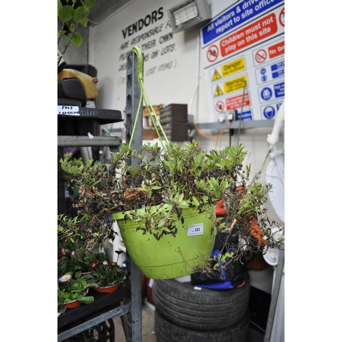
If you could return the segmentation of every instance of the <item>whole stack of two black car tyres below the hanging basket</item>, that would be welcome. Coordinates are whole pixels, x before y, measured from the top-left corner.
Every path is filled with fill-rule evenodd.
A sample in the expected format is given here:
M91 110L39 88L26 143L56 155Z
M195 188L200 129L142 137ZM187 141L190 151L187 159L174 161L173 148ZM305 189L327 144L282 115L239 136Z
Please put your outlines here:
M196 289L176 279L155 280L157 342L246 342L250 280L235 289Z

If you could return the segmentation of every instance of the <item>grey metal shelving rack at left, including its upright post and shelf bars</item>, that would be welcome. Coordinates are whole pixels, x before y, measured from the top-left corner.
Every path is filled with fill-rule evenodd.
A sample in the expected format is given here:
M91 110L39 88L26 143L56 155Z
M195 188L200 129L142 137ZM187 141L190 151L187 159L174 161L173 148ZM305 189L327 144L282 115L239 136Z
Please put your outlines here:
M137 81L137 55L131 51L127 55L127 98L126 98L126 141L131 138L133 122L140 101L140 86ZM139 150L142 146L142 107L138 114L132 147ZM118 150L121 140L118 137L58 135L58 160L63 157L64 147L108 146L111 151ZM58 183L59 194L64 194ZM64 198L60 198L60 206ZM95 298L92 304L74 308L68 314L58 317L58 339L64 341L89 328L103 324L107 319L120 317L127 342L142 341L142 272L127 254L127 277L122 287L115 293ZM114 331L111 332L114 334ZM106 339L107 341L107 339ZM110 341L114 341L114 336Z

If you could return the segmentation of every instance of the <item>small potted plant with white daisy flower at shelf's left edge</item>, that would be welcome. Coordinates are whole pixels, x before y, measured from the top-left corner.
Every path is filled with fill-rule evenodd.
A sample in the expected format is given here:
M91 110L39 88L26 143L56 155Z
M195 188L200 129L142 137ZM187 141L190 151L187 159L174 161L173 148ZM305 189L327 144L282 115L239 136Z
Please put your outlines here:
M83 278L73 279L72 272L68 272L58 279L58 297L66 308L75 308L81 303L90 304L94 302L94 297L88 295L88 291L95 286L95 283L87 282Z

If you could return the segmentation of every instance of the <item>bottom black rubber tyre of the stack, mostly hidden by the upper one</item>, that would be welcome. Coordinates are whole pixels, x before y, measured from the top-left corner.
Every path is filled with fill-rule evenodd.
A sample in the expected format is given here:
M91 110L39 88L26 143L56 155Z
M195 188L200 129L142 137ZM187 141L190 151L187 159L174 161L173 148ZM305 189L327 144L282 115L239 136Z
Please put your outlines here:
M247 342L250 316L244 317L229 328L219 330L191 330L177 326L155 309L155 337L157 342Z

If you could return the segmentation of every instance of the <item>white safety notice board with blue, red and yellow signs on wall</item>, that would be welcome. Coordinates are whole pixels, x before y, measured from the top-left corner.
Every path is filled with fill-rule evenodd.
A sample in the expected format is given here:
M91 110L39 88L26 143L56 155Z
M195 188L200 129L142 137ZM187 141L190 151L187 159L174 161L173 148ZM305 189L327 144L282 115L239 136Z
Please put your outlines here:
M285 1L237 1L201 28L211 121L274 119L285 97Z

